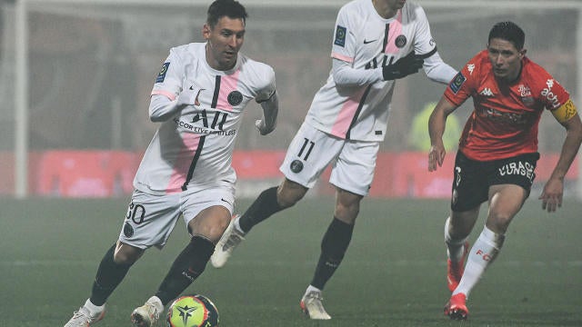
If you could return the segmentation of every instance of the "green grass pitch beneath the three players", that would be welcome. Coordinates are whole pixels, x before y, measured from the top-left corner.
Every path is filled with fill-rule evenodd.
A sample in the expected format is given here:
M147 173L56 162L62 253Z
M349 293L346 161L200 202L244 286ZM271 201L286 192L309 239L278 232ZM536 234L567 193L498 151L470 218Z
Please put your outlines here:
M298 307L334 200L305 199L252 231L225 268L210 264L186 292L212 299L221 326L582 326L582 203L557 213L532 194L502 253L471 293L469 319L452 322L443 223L447 201L365 199L344 263L327 283L333 319ZM0 200L0 326L62 326L89 294L97 264L125 217L121 200ZM248 201L237 203L239 211ZM471 235L483 225L486 206ZM187 242L179 222L110 297L97 326L129 326Z

